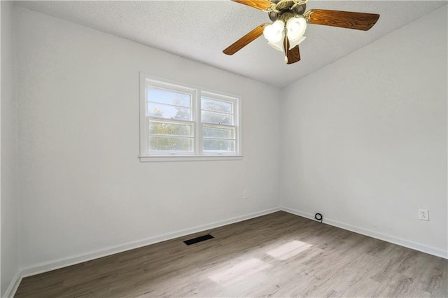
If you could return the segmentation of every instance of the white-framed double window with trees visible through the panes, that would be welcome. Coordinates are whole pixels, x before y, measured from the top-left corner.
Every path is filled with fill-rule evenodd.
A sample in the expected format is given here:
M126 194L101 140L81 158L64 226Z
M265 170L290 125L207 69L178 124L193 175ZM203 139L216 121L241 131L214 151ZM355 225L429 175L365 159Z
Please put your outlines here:
M140 117L142 161L226 159L240 155L238 97L153 80L141 74Z

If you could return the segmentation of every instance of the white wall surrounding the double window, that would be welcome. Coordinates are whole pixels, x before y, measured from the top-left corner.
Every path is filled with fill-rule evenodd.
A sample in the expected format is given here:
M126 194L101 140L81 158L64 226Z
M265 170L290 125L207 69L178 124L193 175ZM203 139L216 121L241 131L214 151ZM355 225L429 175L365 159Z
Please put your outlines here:
M16 9L22 267L279 207L278 89ZM244 159L139 162L139 71L240 94Z

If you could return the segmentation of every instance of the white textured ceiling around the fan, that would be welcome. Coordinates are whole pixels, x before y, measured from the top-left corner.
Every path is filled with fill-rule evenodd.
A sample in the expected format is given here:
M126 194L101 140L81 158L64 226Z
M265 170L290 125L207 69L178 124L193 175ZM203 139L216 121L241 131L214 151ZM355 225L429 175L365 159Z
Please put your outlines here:
M281 52L270 48L262 36L235 55L223 54L228 45L258 24L269 22L267 13L230 0L18 1L16 5L284 87L447 5L447 1L310 0L307 9L381 16L370 31L309 25L307 39L300 44L302 60L290 65L283 62Z

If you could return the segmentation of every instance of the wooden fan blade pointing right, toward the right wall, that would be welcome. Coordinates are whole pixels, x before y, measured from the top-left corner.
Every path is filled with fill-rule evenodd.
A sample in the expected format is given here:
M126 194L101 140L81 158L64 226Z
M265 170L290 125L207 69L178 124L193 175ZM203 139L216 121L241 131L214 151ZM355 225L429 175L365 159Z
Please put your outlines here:
M310 9L304 16L309 24L358 29L367 31L377 22L376 13L353 13L350 11Z

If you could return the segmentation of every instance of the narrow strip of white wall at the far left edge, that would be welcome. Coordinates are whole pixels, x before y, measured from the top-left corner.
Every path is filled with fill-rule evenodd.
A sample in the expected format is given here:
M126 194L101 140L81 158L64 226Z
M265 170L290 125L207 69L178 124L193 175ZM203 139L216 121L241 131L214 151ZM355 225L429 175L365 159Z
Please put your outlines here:
M1 1L1 284L10 291L19 270L13 5ZM9 288L9 289L8 289Z

